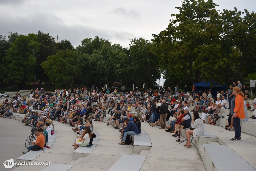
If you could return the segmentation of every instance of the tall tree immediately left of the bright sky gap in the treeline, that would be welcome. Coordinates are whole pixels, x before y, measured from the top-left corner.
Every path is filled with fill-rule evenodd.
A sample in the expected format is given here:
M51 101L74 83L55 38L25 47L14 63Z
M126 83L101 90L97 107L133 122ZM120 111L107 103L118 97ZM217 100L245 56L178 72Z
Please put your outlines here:
M129 45L131 73L129 74L137 86L145 83L147 88L152 88L155 81L161 77L158 67L159 57L151 52L153 46L152 42L142 37L131 39Z

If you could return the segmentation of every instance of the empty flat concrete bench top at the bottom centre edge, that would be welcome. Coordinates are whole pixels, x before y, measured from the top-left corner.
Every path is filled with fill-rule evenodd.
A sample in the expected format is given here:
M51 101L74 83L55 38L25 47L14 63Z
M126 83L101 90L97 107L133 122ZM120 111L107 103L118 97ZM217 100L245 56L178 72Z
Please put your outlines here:
M142 164L144 163L147 156L136 156L136 155L123 155L110 169L109 171L139 171ZM125 163L129 163L124 166Z

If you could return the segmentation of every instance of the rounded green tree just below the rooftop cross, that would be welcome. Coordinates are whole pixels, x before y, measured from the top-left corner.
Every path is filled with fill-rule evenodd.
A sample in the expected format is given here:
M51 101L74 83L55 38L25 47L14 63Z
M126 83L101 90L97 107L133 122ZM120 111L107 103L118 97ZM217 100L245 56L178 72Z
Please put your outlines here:
M47 61L42 62L41 65L51 82L56 83L56 88L70 88L81 74L78 59L79 55L76 51L61 50L47 57Z

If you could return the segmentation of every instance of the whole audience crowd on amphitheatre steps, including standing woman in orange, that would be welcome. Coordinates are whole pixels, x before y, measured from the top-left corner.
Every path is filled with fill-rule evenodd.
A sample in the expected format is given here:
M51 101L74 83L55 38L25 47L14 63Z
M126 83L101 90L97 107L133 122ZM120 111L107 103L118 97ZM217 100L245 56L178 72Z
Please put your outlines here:
M238 86L241 86L239 84ZM251 108L243 101L249 97L248 91L244 90L246 92L244 95L242 87L230 86L226 92L218 91L215 98L211 95L212 89L206 90L201 95L195 90L194 86L192 93L189 94L187 85L185 85L183 93L179 91L177 85L174 92L171 88L161 87L158 92L153 89L141 92L137 89L120 95L117 95L117 90L115 90L112 96L110 90L105 88L102 91L92 88L89 92L86 87L68 91L56 89L55 92L45 94L38 94L37 89L35 93L31 90L31 99L28 101L19 93L11 102L6 99L0 106L0 117L10 118L13 113L24 113L22 122L26 124L28 120L31 120L30 125L39 132L41 129L45 134L47 132L48 139L54 134L52 121L58 119L58 122L74 127L73 131L79 134L77 139L82 143L74 143L74 149L79 146L90 147L92 145L92 140L96 136L93 133L92 120L103 122L103 118L107 115L110 115L107 125L121 132L120 145L129 144L127 143L128 140L130 141L129 136L141 133L141 122L149 123L152 127L160 123L159 129L167 129L165 131L171 132L175 138L179 135L175 127L182 125L183 129L191 128L186 131L185 147L188 148L191 147L189 141L191 135L196 137L204 134L206 118L208 118L207 124L216 125L219 118L226 116L225 109L227 109L228 100L231 113L228 119L230 126L227 125L226 129L235 131L236 136L232 138L233 141L240 141L240 120L248 121L249 115L246 111ZM193 115L190 114L189 106L194 106L192 107ZM253 107L255 108L255 103ZM39 110L41 113L34 112L34 110ZM202 120L199 116L200 112ZM175 119L171 121L170 126L166 127L165 123L170 117L175 117ZM256 119L255 115L252 118ZM39 137L39 133L37 134Z

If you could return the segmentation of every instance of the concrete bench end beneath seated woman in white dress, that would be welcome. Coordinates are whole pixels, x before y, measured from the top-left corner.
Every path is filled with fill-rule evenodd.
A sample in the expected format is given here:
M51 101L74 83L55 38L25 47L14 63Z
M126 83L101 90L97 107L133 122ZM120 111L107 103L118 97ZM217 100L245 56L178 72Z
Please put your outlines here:
M186 130L189 130L188 128L183 129L181 134L186 138ZM192 137L191 137L192 138ZM194 144L197 148L199 145L208 144L208 142L218 142L219 138L207 131L205 131L204 135L198 135L197 140L195 141L195 138L192 141L192 144ZM182 140L181 140L182 141Z

